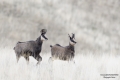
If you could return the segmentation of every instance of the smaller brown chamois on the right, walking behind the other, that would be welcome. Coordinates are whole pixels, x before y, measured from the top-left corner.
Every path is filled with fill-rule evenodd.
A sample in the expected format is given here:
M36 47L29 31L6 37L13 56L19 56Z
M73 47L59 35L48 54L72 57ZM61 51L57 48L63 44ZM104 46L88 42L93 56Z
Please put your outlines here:
M68 34L69 35L69 34ZM50 45L51 47L51 56L49 60L64 60L64 61L70 61L75 56L75 50L74 45L76 44L75 41L75 34L72 34L72 37L69 35L70 42L69 45L66 47L63 47L59 44L56 44L54 46Z

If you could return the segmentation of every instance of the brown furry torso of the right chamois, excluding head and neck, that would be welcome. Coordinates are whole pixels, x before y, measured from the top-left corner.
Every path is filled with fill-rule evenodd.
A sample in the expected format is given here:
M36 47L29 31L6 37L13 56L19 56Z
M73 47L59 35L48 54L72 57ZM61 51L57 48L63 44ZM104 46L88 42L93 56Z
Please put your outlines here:
M53 59L60 60L71 60L75 56L74 46L70 45L66 47L62 47L60 45L54 45L51 48L51 55Z

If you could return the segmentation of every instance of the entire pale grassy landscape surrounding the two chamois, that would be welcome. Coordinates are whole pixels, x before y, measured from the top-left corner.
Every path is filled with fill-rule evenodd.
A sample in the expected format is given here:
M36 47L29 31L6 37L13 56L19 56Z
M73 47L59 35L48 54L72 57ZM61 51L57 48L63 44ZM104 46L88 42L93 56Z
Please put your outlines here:
M36 40L43 28L41 64L17 63L15 44ZM67 46L71 33L75 64L48 63L50 45ZM0 0L0 54L0 80L120 80L120 0Z

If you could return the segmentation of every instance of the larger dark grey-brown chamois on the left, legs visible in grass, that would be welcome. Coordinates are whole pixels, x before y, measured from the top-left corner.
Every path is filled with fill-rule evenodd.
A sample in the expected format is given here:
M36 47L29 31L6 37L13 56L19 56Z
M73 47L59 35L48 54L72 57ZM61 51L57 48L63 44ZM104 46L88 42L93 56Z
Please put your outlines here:
M40 56L40 52L42 49L42 43L45 40L48 40L48 38L45 36L47 30L42 29L41 35L35 40L26 41L26 42L18 42L16 46L14 47L17 62L19 61L19 58L23 56L27 63L29 63L29 56L33 56L39 64L42 61L42 57Z

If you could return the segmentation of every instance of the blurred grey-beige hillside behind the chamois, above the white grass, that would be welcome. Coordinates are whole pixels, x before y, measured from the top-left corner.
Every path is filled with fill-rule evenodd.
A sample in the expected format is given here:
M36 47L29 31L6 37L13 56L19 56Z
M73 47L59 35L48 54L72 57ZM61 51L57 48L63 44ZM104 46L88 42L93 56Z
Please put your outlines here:
M75 33L75 54L120 52L120 0L0 0L0 47L36 40L47 29L50 45L67 46Z

